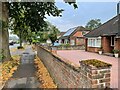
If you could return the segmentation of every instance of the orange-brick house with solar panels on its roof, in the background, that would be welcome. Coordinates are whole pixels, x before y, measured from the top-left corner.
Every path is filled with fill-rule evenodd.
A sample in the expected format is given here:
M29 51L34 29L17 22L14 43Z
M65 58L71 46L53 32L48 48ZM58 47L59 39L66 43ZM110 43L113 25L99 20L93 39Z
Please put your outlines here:
M88 33L82 26L70 28L63 36L59 38L60 44L85 45L84 35Z

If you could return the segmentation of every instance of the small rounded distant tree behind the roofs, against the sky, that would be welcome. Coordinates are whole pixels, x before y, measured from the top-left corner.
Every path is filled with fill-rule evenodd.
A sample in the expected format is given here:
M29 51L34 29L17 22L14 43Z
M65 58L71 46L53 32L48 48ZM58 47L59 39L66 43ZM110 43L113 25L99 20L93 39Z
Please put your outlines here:
M101 25L100 19L92 19L86 24L86 29L93 30Z

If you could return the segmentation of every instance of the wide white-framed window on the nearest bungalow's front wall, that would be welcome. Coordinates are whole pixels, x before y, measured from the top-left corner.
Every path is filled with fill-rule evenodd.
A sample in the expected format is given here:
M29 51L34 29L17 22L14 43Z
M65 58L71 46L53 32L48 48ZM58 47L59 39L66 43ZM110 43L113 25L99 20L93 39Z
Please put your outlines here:
M88 46L101 47L101 38L88 38Z

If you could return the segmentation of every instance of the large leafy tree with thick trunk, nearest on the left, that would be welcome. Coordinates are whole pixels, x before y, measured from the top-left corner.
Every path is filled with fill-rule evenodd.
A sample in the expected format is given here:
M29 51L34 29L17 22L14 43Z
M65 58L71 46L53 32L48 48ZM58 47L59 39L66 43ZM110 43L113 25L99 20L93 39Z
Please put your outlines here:
M20 32L24 28L21 26L22 22L29 26L32 32L37 32L40 28L46 26L44 21L46 14L49 16L61 16L63 11L57 8L55 2L0 2L0 4L2 5L2 17L0 17L0 20L7 23L9 17L14 19ZM70 4L77 8L75 2ZM22 16L21 13L24 15L22 18L19 17ZM21 19L22 22L20 22ZM4 60L10 60L8 28L1 28L0 33L2 34L2 37L0 37L2 42L0 49L4 51Z

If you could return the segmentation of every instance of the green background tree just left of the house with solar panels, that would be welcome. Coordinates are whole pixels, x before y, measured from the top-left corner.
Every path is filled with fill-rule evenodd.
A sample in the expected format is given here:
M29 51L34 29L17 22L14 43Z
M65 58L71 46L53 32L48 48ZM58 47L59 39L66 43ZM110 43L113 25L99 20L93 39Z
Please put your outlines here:
M34 41L44 43L47 39L50 39L52 43L54 43L57 40L57 35L60 33L60 31L50 22L46 21L46 23L46 27L43 27L42 31L37 32L36 37L33 35Z

